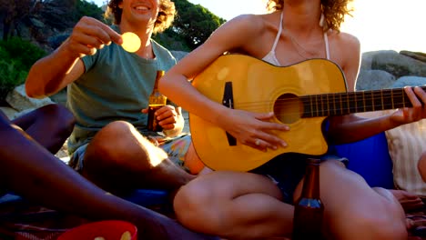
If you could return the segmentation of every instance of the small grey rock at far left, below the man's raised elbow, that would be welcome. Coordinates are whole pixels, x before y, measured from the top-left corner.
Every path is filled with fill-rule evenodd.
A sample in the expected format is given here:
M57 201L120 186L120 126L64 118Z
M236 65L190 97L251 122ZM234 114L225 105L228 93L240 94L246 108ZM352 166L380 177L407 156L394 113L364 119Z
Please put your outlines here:
M18 85L10 92L6 98L6 102L17 111L24 111L28 108L38 108L44 105L54 104L49 97L43 99L30 98L25 93L25 85Z

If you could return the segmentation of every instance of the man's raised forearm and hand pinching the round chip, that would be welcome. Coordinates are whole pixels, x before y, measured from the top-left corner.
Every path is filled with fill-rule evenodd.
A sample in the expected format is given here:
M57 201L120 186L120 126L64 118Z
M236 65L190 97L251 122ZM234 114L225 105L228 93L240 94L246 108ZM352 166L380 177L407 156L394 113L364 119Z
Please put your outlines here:
M31 67L25 82L26 94L38 98L55 94L84 73L80 57L95 55L96 49L111 41L121 44L122 40L109 26L83 17L62 45Z

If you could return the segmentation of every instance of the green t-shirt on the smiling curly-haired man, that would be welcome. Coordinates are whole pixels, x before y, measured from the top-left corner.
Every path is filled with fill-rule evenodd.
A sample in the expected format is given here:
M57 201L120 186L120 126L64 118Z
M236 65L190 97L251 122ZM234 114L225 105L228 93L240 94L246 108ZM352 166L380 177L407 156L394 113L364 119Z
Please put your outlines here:
M117 25L113 29L119 33ZM82 58L86 72L67 86L67 106L76 117L68 140L70 154L113 121L124 120L146 130L147 115L141 109L147 107L157 70L167 71L177 62L166 48L151 43L155 59L128 53L114 43Z

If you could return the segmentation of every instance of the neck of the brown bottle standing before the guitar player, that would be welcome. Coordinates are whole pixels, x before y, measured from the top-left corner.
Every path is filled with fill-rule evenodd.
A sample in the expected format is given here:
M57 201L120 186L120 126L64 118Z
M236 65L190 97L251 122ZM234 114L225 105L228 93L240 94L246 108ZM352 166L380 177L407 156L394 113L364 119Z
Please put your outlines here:
M320 159L309 159L301 197L320 199Z

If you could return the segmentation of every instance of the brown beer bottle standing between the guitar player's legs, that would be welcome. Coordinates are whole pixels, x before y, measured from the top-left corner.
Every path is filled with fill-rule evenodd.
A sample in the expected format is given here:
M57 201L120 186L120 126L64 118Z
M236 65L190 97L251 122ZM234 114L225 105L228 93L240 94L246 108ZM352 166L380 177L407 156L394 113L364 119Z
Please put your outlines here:
M308 159L302 193L294 205L292 240L324 239L324 205L320 200L320 159Z

